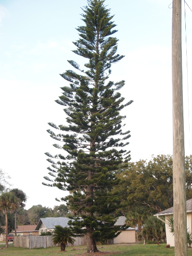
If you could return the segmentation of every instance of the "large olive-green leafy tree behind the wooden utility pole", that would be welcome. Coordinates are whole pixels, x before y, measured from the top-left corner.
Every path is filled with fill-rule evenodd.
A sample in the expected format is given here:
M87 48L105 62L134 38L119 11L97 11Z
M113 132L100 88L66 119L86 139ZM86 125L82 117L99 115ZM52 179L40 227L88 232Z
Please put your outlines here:
M185 158L187 200L192 196L192 156ZM152 156L148 162L130 162L117 173L120 184L114 188L121 198L120 212L132 207L148 207L157 213L173 206L173 160L171 155Z

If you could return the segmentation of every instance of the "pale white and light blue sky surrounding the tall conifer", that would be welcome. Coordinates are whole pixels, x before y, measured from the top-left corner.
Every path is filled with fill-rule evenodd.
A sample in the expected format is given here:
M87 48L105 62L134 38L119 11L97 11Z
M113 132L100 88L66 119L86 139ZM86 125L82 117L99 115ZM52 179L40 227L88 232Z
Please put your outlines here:
M110 80L126 80L121 93L126 101L134 100L123 112L132 135L127 147L132 161L172 154L170 3L106 0L118 25L118 53L126 55L113 65ZM192 0L187 3L192 8ZM41 184L49 166L44 153L56 152L52 146L56 141L46 130L48 122L65 122L62 106L54 101L61 95L60 87L67 85L59 73L72 69L67 60L85 63L71 51L75 49L72 41L78 39L75 27L83 23L79 14L84 5L86 0L0 1L0 168L12 177L13 187L28 196L26 209L38 204L53 207L60 204L55 197L66 195ZM192 102L192 12L188 7L186 15ZM185 146L189 155L184 40L183 19Z

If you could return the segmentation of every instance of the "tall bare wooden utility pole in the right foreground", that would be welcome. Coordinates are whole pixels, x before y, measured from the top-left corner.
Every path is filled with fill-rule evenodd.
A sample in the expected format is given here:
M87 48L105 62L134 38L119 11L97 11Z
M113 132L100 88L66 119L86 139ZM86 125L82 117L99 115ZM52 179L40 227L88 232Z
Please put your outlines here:
M175 256L187 256L187 213L182 94L181 0L173 0L172 16L173 90L173 217Z

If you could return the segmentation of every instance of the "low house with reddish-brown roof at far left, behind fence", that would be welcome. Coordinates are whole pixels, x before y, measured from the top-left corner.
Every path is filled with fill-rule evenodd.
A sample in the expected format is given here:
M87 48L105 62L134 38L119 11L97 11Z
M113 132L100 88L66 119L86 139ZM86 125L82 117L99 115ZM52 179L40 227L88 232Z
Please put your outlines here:
M5 229L5 227L2 227ZM39 232L35 230L36 225L19 225L17 226L17 235L39 235ZM14 231L9 234L15 234ZM5 241L5 232L0 234L0 241Z

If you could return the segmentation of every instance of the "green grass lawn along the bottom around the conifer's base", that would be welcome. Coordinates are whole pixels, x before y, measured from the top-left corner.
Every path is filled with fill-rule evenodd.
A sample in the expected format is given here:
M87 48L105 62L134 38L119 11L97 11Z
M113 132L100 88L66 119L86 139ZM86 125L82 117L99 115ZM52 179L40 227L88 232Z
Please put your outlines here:
M174 256L174 247L165 248L166 244L113 244L113 245L101 245L97 248L101 252L109 252L111 256ZM1 245L0 245L1 246ZM60 252L60 247L51 247L45 249L25 249L16 248L10 244L9 248L0 250L0 256L79 256L86 252L86 246L67 247L67 252ZM103 248L100 248L103 247ZM79 250L74 250L79 249ZM99 256L102 254L100 253ZM89 254L87 254L89 256ZM94 254L96 256L96 254ZM103 254L105 256L105 253ZM188 250L188 256L192 256L192 250Z

